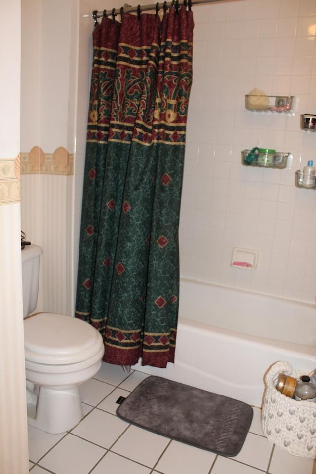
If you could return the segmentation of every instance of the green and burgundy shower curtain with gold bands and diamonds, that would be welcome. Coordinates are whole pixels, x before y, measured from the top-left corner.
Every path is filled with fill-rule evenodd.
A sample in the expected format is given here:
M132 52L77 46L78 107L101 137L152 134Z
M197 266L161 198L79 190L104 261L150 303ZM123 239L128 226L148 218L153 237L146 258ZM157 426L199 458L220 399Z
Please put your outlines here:
M174 361L192 40L184 6L93 33L75 316L112 364Z

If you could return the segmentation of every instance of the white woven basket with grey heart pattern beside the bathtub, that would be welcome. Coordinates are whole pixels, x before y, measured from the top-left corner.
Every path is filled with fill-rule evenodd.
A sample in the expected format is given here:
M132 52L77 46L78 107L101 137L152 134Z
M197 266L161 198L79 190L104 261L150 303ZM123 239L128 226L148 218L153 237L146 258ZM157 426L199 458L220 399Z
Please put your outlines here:
M276 362L265 374L261 426L269 441L296 456L316 457L316 403L296 401L276 390L280 373L299 379L288 362Z

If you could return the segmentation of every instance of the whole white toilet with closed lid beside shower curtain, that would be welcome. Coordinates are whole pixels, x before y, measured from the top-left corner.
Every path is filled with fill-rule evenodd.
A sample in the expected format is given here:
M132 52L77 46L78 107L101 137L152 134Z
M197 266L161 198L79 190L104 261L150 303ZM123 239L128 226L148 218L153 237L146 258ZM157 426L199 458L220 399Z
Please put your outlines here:
M28 424L63 433L83 417L79 385L101 367L104 344L100 333L80 319L31 314L37 305L41 254L38 245L22 250Z

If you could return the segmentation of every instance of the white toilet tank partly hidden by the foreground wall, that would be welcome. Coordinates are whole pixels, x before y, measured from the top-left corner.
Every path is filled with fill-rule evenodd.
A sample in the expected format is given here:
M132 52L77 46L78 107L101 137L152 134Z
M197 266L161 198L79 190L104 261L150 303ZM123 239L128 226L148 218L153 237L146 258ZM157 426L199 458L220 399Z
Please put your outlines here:
M40 277L40 256L42 249L39 245L27 245L22 253L22 290L23 318L35 310Z

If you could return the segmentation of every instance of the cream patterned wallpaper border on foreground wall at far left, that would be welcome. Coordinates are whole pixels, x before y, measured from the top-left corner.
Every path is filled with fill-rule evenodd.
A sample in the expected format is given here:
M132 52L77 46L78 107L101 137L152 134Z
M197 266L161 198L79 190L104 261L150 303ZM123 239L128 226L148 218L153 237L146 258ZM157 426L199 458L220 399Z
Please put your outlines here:
M0 205L20 202L20 159L0 158Z

